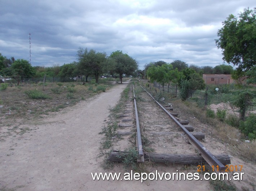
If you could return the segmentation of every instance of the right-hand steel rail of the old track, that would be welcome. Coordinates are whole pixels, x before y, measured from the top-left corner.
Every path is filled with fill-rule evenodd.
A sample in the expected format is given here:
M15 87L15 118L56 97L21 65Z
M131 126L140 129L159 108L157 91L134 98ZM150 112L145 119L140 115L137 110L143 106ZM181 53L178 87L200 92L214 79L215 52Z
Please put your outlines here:
M142 87L142 86L141 86ZM142 87L146 92L147 90ZM206 162L210 165L210 166L219 166L219 169L222 171L225 169L224 164L222 164L211 152L209 152L208 149L206 149L202 143L200 143L188 130L186 130L186 128L178 121L176 120L175 117L173 117L171 115L171 113L169 113L158 101L156 101L156 99L149 93L147 92L153 99L154 101L169 115L169 117L171 117L173 119L173 121L176 122L176 124L178 126L180 126L180 128L186 133L186 135L188 136L189 142L191 145L193 145L195 148L197 148L200 152L200 155L202 155L202 157L204 158L204 160L206 160Z

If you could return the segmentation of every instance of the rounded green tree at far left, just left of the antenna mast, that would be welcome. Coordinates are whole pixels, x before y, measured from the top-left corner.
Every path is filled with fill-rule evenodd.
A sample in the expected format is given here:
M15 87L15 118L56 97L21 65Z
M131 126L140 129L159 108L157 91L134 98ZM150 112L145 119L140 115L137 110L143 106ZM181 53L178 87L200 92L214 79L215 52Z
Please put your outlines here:
M24 78L32 78L36 73L34 67L32 67L27 60L23 59L14 61L11 69L18 80L18 85L20 80L23 80Z

